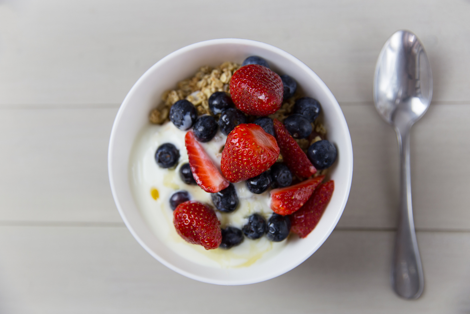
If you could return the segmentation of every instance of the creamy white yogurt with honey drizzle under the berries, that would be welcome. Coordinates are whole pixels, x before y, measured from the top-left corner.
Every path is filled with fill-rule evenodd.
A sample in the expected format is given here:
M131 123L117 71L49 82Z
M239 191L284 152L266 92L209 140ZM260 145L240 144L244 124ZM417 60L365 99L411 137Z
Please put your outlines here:
M197 185L187 185L179 175L180 166L188 162L188 153L184 144L187 131L181 131L173 123L167 122L162 126L149 125L140 133L134 142L133 153L130 158L130 182L134 199L141 210L143 217L156 236L183 258L195 263L218 267L243 267L264 260L277 254L286 244L271 242L266 236L258 240L245 238L244 241L231 249L205 250L204 247L184 241L173 226L173 211L170 208L170 196L179 190L186 190L191 194L191 200L200 201L214 208L211 193L205 192ZM225 145L227 137L220 131L208 143L201 143L220 169L219 153ZM180 160L176 169L163 169L155 161L157 147L164 143L172 143L180 150ZM155 200L152 189L157 189L158 198ZM238 195L238 208L232 213L221 213L216 210L221 227L235 226L242 228L251 214L258 213L266 218L273 211L269 207L269 191L261 194L251 193L244 181L235 183Z

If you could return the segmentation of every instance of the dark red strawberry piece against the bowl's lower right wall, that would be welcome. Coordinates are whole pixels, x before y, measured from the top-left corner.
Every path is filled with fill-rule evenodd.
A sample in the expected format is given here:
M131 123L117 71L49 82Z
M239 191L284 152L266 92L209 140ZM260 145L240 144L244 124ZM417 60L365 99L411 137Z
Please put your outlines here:
M301 238L305 238L318 224L334 189L335 182L333 180L320 185L313 192L312 197L305 202L304 206L290 216L292 222L290 231L297 233Z

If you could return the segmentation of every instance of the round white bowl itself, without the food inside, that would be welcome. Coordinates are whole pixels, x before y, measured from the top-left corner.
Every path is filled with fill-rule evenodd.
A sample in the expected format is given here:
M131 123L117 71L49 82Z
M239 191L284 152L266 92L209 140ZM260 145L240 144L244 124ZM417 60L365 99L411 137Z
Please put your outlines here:
M305 239L290 239L279 254L248 267L219 269L201 266L181 258L168 248L149 226L136 206L129 179L129 157L134 140L147 124L151 109L165 90L174 89L182 79L192 77L202 65L217 66L224 61L242 63L252 55L265 58L271 69L289 74L305 92L318 99L338 158L330 172L335 191L319 224ZM111 191L119 214L134 238L154 258L175 272L201 282L242 285L262 282L290 271L310 257L328 238L343 213L352 180L352 144L345 117L328 87L307 65L271 45L244 39L216 39L176 50L154 64L134 84L119 108L111 131L108 152Z

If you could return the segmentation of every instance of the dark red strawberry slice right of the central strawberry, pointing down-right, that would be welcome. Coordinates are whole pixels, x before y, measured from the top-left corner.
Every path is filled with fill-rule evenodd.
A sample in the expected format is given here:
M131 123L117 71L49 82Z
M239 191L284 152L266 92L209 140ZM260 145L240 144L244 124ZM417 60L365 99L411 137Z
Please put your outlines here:
M317 169L313 167L307 155L295 139L290 136L289 131L277 119L274 119L274 130L276 132L277 144L281 149L282 158L290 171L298 177L310 177L317 172Z

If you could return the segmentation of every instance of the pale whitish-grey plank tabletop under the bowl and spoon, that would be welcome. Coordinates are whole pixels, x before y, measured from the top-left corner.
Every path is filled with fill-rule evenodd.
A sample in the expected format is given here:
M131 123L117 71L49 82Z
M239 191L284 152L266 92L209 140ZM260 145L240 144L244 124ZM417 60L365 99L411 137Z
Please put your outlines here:
M0 0L0 313L470 313L470 1ZM372 78L406 28L434 76L412 130L415 225L425 289L395 296L394 132ZM337 97L354 149L337 228L302 265L222 287L172 272L125 228L107 145L119 104L152 64L200 40L280 47Z

